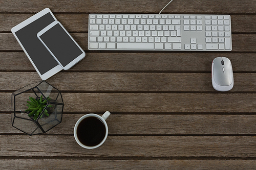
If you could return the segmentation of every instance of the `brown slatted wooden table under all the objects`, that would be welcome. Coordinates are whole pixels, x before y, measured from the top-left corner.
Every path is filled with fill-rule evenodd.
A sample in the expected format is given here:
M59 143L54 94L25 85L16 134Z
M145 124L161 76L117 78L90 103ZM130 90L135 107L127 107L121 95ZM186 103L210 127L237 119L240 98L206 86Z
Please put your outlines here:
M0 0L0 169L256 169L256 1L175 0L163 14L230 14L231 52L88 51L90 13L158 13L168 1ZM11 28L44 8L86 51L47 82L61 90L62 123L28 136L11 126L11 93L40 81ZM211 85L211 61L228 57L234 87ZM112 114L109 136L81 148L84 114Z

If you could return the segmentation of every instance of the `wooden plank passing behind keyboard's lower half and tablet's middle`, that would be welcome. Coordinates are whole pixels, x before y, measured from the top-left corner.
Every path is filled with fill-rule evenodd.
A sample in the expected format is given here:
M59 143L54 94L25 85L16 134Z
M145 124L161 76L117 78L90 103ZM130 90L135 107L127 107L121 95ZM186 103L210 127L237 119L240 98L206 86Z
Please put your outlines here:
M71 36L77 41L84 51L88 51L87 33L73 33ZM13 34L0 33L0 39L5 42L0 44L0 51L22 50L22 47L18 44ZM253 44L256 44L256 35L254 34L232 35L232 52L256 52L256 49L254 48L255 45Z

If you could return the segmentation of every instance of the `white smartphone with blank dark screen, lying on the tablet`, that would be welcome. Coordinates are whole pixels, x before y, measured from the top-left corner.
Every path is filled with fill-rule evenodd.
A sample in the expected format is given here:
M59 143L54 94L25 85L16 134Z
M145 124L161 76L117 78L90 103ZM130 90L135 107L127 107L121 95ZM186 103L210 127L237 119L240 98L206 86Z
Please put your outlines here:
M59 21L53 21L38 32L37 37L65 70L86 56L86 53Z

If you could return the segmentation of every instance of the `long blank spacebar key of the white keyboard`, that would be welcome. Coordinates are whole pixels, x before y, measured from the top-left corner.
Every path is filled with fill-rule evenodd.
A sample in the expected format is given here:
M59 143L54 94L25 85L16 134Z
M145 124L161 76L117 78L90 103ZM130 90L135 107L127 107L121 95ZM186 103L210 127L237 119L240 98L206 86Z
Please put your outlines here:
M117 43L117 49L154 49L154 43Z

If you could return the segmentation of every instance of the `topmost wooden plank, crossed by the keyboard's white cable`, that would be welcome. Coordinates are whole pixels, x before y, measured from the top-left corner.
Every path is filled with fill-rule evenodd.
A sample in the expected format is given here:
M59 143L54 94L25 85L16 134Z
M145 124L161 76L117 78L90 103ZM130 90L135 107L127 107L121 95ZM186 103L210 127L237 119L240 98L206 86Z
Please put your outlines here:
M167 4L166 1L44 1L39 0L26 1L26 0L14 0L0 1L0 11L2 12L28 12L35 13L44 8L50 8L53 12L84 12L84 13L159 13L160 10ZM254 6L255 1L245 0L241 1L221 1L217 0L212 2L211 0L203 0L193 2L180 0L171 3L163 13L202 13L202 14L255 14ZM188 8L189 7L189 8Z

